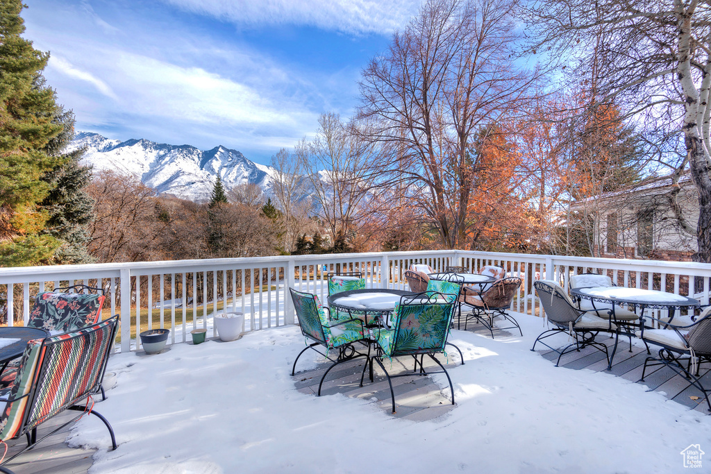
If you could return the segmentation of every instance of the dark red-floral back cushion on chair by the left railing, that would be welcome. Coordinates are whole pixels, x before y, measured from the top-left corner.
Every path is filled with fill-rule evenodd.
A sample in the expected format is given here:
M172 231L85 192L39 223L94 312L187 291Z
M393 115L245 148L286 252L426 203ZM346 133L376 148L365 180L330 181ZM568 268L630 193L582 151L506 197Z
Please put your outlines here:
M27 325L60 333L85 328L99 321L105 298L94 293L40 293Z

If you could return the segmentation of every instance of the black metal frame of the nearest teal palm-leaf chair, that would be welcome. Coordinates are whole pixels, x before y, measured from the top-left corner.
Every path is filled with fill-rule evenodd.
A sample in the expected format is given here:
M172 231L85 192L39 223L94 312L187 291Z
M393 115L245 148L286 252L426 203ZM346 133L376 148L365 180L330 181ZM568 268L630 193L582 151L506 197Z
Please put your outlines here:
M427 294L429 293L429 294ZM407 356L410 355L412 358L415 360L415 367L413 367L412 372L407 372L405 374L397 374L397 375L390 375L387 370L385 370L385 365L383 365L383 362L381 359L385 357L383 354L383 350L380 348L378 345L375 355L370 355L370 348L368 348L368 361L365 363L365 367L363 367L363 372L360 374L360 387L363 387L363 379L365 378L365 370L370 367L370 382L373 382L373 360L378 363L381 369L383 369L383 372L385 372L385 377L387 378L387 384L390 387L390 398L392 400L392 413L395 413L395 392L392 389L392 378L394 377L412 377L413 375L420 375L420 376L425 376L425 375L432 375L432 374L442 374L447 376L447 380L449 381L449 388L451 389L451 404L454 405L454 384L451 382L451 377L449 377L449 372L447 372L447 369L444 368L444 365L442 365L442 362L439 362L437 360L437 357L434 357L434 354L437 352L444 352L444 347L449 344L447 343L447 338L449 338L449 330L451 329L451 321L454 318L454 304L455 302L451 303L440 303L437 300L439 298L444 299L444 293L437 293L436 291L429 291L429 292L423 292L423 293L417 293L412 296L402 296L400 298L400 305L407 305L407 300L412 300L414 298L419 298L422 303L417 303L418 306L420 304L433 304L433 305L438 305L438 306L450 306L449 309L449 323L447 324L447 333L444 335L444 344L442 345L442 349L436 350L436 349L419 349L419 350L401 350L401 351L395 351L393 352L390 357L402 357L402 356ZM383 323L384 327L387 327L385 324L385 321L383 317L381 316L381 322ZM393 335L393 338L397 340L397 335L400 333L400 327L398 326L395 329L395 334ZM456 346L453 345L455 348ZM459 350L459 348L457 348ZM461 354L461 351L460 351ZM419 355L419 360L417 360L417 356ZM435 372L432 371L427 371L424 369L424 356L427 355L430 357L432 360L434 360L437 365L442 370L437 370ZM462 365L464 365L464 358L462 358ZM417 367L419 366L419 371L417 370Z

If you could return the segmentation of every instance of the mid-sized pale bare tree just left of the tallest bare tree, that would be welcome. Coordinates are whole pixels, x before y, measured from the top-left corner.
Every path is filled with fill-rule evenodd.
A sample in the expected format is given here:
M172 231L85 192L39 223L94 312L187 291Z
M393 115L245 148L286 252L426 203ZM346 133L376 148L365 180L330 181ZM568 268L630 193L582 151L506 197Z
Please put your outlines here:
M331 242L342 233L346 238L370 212L370 195L378 185L378 149L341 122L337 114L322 114L319 130L311 141L302 139L294 151L309 178L317 213L328 226Z

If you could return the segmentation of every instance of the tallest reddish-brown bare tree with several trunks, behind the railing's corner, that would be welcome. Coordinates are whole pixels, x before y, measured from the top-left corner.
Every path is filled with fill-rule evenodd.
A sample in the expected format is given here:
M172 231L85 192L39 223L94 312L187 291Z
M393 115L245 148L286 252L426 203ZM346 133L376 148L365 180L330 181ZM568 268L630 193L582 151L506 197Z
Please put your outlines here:
M360 82L360 117L447 248L465 244L474 134L510 119L536 80L515 68L513 4L429 0Z

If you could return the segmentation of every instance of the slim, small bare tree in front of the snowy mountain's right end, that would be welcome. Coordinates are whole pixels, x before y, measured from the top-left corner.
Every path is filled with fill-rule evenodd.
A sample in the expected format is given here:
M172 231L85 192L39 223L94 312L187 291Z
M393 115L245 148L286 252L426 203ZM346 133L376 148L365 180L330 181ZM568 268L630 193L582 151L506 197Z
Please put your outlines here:
M299 235L314 232L311 228L311 198L306 192L304 168L296 155L287 149L280 149L272 156L274 181L272 191L279 212L282 212L284 230L284 250L291 252Z

